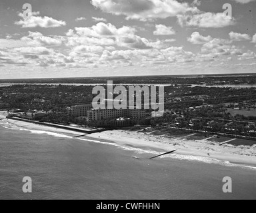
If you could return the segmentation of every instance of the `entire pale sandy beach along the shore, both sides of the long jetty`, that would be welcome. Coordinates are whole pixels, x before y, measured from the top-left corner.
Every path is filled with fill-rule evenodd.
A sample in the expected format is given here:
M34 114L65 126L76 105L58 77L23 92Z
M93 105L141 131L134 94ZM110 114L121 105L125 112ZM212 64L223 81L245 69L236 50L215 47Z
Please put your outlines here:
M3 111L0 111L0 119L5 118L6 115L7 114ZM40 130L59 134L64 133L68 136L79 135L79 132L50 126L41 126L25 121L8 120L8 122L17 126L25 126L25 129L28 130ZM107 140L107 142L113 142L123 146L131 146L133 148L157 152L177 150L175 154L187 157L191 156L191 160L193 160L193 157L202 157L208 158L209 160L222 160L223 162L228 161L234 164L256 167L256 145L233 146L231 144L223 144L219 146L217 142L209 141L210 138L191 140L189 139L189 135L182 137L163 137L152 135L150 132L134 132L129 130L108 130L89 134L87 138L91 138L91 140ZM227 140L229 139L227 138Z

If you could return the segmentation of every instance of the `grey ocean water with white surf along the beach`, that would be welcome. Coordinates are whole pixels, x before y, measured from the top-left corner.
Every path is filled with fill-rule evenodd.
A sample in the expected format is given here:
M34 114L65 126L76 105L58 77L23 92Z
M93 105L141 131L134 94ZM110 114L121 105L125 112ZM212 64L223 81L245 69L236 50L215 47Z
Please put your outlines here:
M255 199L256 170L0 121L0 199ZM140 159L135 159L138 156ZM23 177L33 191L23 193ZM233 193L223 193L223 178Z

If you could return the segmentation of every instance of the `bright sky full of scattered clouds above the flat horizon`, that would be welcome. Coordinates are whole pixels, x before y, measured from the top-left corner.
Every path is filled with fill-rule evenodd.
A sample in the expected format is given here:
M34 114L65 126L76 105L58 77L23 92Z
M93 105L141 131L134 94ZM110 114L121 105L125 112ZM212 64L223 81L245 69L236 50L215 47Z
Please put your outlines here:
M0 79L255 73L255 13L256 0L1 0Z

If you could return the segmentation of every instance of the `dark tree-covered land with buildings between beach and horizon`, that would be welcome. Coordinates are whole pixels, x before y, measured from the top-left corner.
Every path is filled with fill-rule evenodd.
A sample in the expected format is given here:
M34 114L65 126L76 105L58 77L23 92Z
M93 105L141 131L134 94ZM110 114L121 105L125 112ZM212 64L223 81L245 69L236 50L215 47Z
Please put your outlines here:
M93 85L109 79L1 80L0 110L77 128L158 126L256 140L256 75L113 78L116 85L164 85L163 116L144 108L93 109Z

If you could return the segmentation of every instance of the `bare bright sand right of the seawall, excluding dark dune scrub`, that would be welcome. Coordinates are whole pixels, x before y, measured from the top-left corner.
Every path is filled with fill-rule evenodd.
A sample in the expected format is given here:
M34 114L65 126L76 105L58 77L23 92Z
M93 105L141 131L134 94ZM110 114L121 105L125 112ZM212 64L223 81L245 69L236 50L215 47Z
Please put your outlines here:
M105 140L112 140L119 144L129 144L135 147L140 146L145 148L151 147L154 149L161 149L163 150L163 152L168 152L176 149L177 151L175 151L173 154L222 160L223 162L229 161L230 163L233 164L245 164L246 166L256 166L255 156L244 156L231 153L234 149L236 149L237 152L240 152L241 148L239 147L220 146L218 147L220 148L219 150L213 150L210 144L204 144L205 141L186 141L181 138L171 138L171 140L169 139L169 142L167 142L166 140L163 140L163 138L159 138L159 136L151 135L149 136L149 139L148 136L143 136L143 133L127 132L124 130L112 130L108 132L101 132L101 134L91 134L89 137L98 138L98 136ZM177 145L177 143L179 144ZM223 149L222 152L221 149ZM228 152L229 149L232 149L231 152ZM253 154L255 155L256 148L252 149L254 149Z

